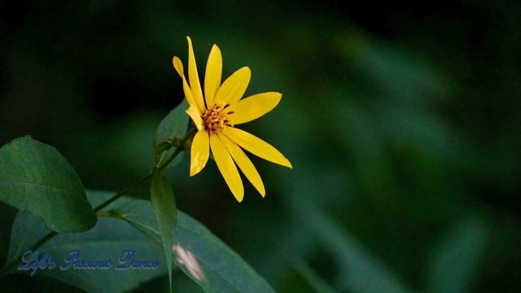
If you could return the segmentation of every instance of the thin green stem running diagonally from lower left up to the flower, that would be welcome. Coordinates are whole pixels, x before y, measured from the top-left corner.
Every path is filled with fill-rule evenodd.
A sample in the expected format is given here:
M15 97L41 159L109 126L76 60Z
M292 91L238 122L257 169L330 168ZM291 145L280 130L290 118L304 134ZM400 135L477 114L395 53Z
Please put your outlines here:
M195 128L191 128L187 132L187 134L183 137L183 139L181 140L181 143L176 148L176 150L170 155L168 160L166 160L165 163L163 163L159 167L154 167L154 168L157 168L158 170L163 170L164 168L166 168L166 166L168 166L168 164L170 164L173 161L173 159L175 159L177 157L177 155L179 155L184 150L184 143L192 138L192 136L195 134L195 131L196 131ZM94 207L93 210L96 213L96 216L106 216L106 214L104 212L100 212L100 210L102 210L104 207L106 207L110 203L114 202L115 200L119 199L120 197L124 196L125 194L138 189L145 182L147 182L148 179L150 179L150 177L152 177L152 172L153 172L153 170L151 172L148 172L148 174L146 174L146 176L141 178L139 181L134 182L134 184L132 184L132 185L128 186L127 188L119 191L118 193L114 194L113 197L109 198L108 200L106 200L103 203L101 203L101 204L97 205L96 207ZM29 249L30 250L35 250L35 249L39 248L45 242L47 242L47 240L53 238L57 234L58 233L56 233L55 231L47 233L45 236L40 238L40 240L34 242L34 244L31 245L31 247ZM10 261L8 263L6 263L4 265L4 267L0 268L0 276L3 276L7 271L9 271L11 268L13 268L15 265L17 265L21 261L21 259L22 259L22 257L20 255L18 258L14 259L14 260L12 260L12 261Z

